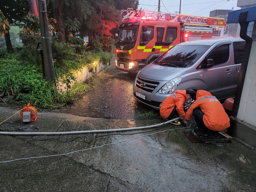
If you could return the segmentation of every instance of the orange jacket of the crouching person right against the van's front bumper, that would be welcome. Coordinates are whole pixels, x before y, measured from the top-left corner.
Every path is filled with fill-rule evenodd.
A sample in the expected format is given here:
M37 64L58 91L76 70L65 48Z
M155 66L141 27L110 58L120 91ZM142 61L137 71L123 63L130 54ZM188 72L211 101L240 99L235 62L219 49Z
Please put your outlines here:
M170 97L167 97L161 105L160 116L166 119L176 106L176 110L180 117L185 116L183 103L188 100L186 90L177 90Z

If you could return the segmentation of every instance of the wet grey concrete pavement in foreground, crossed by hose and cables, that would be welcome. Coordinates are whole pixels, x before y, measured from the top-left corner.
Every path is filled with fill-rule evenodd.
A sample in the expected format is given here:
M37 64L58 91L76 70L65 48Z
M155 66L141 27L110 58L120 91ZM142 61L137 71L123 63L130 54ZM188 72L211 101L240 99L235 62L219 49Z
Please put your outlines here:
M0 107L0 122L18 110ZM63 132L163 122L50 111L38 112L37 117L36 122L6 123L0 129ZM19 119L16 114L7 122ZM157 128L125 132L129 135L0 135L0 191L256 191L255 150L234 139L231 143L191 143L182 126ZM138 133L149 130L153 131Z

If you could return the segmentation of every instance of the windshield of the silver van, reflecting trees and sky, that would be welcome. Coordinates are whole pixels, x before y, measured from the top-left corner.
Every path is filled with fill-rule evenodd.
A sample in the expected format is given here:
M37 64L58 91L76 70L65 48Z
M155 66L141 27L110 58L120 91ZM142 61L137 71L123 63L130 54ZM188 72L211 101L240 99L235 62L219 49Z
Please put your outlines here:
M203 45L176 45L162 54L153 64L187 68L196 63L209 47Z

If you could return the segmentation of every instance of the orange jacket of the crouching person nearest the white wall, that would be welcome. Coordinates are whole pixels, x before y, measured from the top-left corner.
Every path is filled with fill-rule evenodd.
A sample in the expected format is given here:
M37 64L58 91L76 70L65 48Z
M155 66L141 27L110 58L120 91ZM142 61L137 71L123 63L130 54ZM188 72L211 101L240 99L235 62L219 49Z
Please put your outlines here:
M201 108L204 113L203 122L207 128L215 131L223 131L230 126L229 117L222 104L208 91L197 91L196 101L188 109L185 119L190 120L194 108L197 107Z

